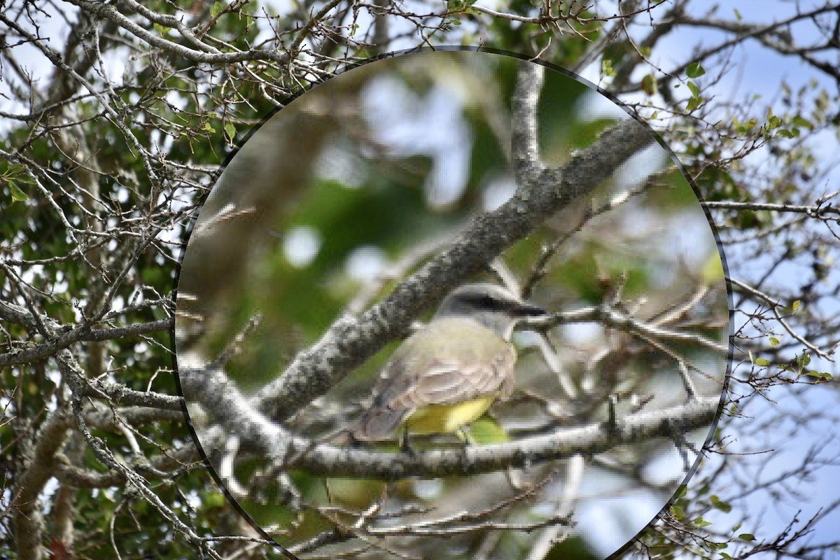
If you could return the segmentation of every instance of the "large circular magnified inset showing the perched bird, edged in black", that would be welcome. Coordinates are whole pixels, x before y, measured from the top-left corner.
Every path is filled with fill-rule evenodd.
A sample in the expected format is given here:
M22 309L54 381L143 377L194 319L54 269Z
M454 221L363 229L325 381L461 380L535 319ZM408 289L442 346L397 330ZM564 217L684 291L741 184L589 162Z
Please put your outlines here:
M675 156L591 86L397 56L226 165L181 266L181 390L295 557L605 558L711 437L723 270Z

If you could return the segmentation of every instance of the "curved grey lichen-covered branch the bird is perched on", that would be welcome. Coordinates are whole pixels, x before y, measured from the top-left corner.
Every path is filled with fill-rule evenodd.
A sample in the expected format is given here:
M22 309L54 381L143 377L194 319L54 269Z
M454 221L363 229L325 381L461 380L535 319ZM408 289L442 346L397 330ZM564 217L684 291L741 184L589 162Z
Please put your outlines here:
M681 406L619 417L614 423L564 428L515 442L387 453L335 447L296 436L250 408L219 369L186 369L181 372L181 385L185 392L201 396L202 404L212 412L224 432L237 434L240 443L259 449L277 468L379 479L487 473L569 458L577 453L591 455L618 444L647 442L653 437L672 437L675 432L706 427L714 421L720 405L717 396L701 397ZM213 453L213 449L206 451Z

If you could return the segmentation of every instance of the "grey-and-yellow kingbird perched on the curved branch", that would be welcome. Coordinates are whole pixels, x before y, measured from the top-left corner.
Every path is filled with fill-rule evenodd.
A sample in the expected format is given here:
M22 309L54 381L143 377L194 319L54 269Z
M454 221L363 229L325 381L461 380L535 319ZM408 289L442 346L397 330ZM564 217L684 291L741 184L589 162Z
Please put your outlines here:
M496 398L511 394L513 327L522 317L544 314L498 285L452 291L432 321L391 355L353 437L385 439L401 425L414 434L460 432Z

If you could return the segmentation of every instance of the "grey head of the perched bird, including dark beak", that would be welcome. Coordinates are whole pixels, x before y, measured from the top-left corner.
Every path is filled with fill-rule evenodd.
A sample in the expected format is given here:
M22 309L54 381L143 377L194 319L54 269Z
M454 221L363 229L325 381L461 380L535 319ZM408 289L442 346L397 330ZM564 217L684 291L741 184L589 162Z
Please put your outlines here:
M465 284L446 296L433 320L468 317L509 340L517 321L543 315L542 307L522 301L500 285Z

